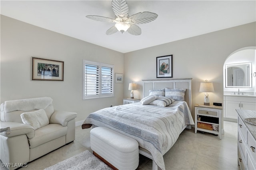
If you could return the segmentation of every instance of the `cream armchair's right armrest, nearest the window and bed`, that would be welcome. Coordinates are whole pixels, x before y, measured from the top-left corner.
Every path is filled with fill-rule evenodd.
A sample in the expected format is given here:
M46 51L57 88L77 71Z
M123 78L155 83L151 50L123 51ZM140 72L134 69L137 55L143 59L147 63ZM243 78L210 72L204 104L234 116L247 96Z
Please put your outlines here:
M50 123L57 123L61 124L62 126L67 126L68 121L74 118L76 118L76 113L54 110L54 113L50 118Z

